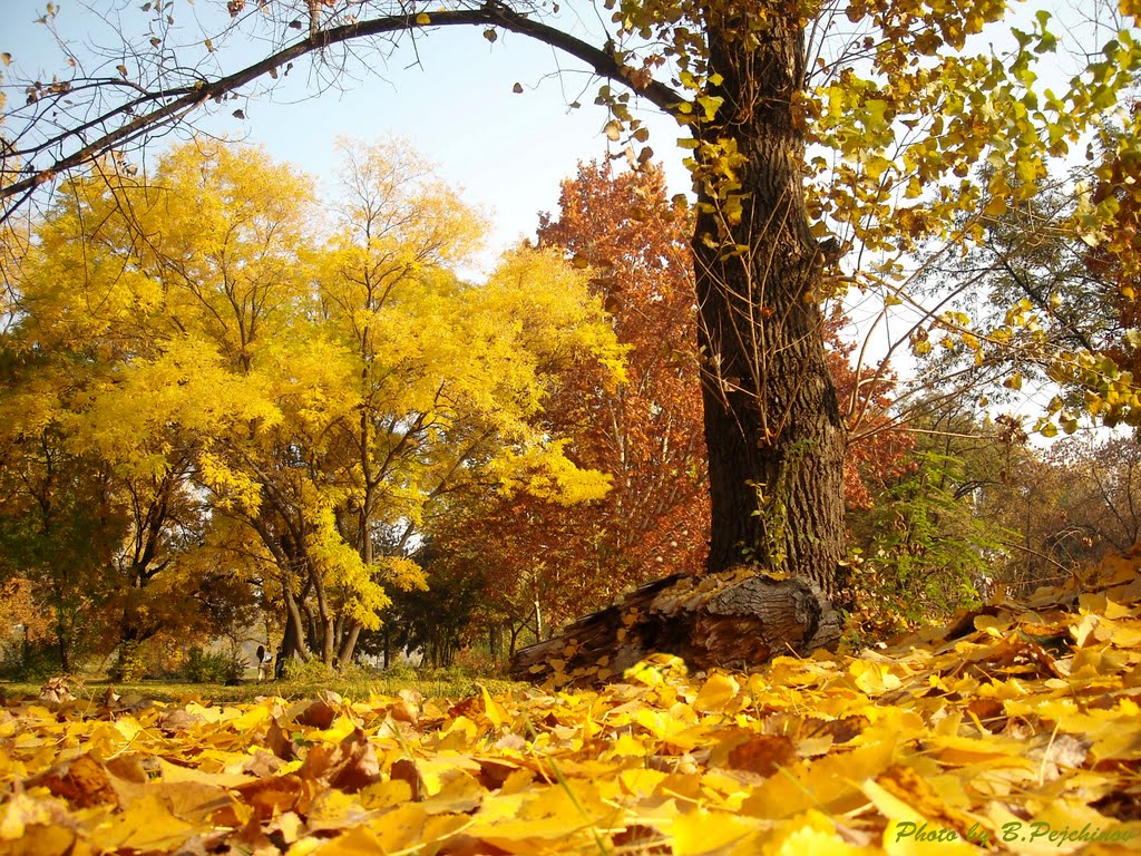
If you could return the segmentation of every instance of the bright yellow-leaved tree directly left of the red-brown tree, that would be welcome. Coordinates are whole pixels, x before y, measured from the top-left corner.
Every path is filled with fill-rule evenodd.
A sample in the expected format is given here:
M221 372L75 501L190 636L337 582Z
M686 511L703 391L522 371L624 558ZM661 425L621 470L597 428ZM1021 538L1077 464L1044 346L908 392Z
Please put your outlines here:
M326 330L353 361L354 406L324 435L339 455L326 469L337 535L355 550L342 579L422 586L408 554L446 495L489 479L567 501L605 493L541 411L560 370L591 355L617 375L621 349L585 277L551 253L520 248L485 283L462 282L454 266L478 248L482 218L406 145L342 150L338 228L318 253ZM332 639L345 661L378 627L378 592L341 584L315 599L326 661Z

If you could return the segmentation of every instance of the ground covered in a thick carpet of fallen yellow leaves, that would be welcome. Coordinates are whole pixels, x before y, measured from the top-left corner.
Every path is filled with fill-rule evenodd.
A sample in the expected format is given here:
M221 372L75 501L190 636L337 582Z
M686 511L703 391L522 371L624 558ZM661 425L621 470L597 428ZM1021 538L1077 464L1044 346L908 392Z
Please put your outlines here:
M1141 849L1141 579L859 656L601 692L9 700L0 853Z

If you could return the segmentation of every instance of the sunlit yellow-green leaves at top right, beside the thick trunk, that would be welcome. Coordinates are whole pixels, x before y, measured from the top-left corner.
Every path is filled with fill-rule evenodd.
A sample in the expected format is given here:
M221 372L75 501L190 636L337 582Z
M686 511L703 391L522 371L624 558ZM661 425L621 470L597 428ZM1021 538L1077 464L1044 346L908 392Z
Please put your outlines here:
M1006 62L964 50L966 35L1003 14L993 2L849 5L850 19L869 21L885 38L867 40L868 65L843 67L809 95L810 139L841 156L822 163L814 216L897 255L930 240L970 245L979 235L962 229L966 217L1001 217L1041 191L1047 159L1070 154L1127 91L1139 67L1135 40L1117 34L1055 95L1037 70L1057 48L1045 10L1029 29L1012 30L1018 47ZM915 54L931 60L913 62ZM993 167L984 197L963 180L980 160ZM920 200L907 210L922 217L899 217L900 191Z

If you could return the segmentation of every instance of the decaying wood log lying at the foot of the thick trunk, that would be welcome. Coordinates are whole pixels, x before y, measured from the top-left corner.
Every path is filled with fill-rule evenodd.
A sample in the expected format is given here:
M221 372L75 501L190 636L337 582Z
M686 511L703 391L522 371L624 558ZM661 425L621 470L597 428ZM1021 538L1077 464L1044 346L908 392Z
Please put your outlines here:
M680 656L691 669L742 669L839 638L840 619L814 583L738 566L642 586L517 652L511 676L557 686L601 684L654 653Z

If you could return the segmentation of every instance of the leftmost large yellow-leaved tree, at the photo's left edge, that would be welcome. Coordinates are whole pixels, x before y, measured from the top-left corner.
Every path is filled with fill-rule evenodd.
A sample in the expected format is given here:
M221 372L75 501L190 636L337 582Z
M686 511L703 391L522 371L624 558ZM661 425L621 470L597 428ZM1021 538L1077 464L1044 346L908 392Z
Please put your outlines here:
M272 415L232 380L272 314L270 290L282 291L281 224L264 229L259 257L256 242L211 217L203 194L192 211L186 188L212 180L209 161L194 173L202 154L184 150L164 160L154 187L114 162L71 183L37 225L13 280L6 403L18 418L6 420L5 463L24 490L9 498L25 495L41 540L54 544L16 570L39 568L58 614L64 668L74 648L64 631L74 639L79 630L68 629L75 622L67 615L97 615L107 641L128 646L194 615L188 607L212 583L180 562L209 534L212 511L195 485L202 457L236 421ZM282 186L285 171L251 165L234 159L248 173L230 184L278 187L286 204L290 191L304 188ZM181 194L170 192L176 186ZM225 183L215 191L240 197ZM292 212L296 235L301 212ZM286 219L281 205L248 205L245 213L248 229ZM294 293L304 288L300 278L291 284ZM16 547L32 543L27 531L11 535Z

